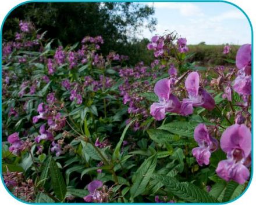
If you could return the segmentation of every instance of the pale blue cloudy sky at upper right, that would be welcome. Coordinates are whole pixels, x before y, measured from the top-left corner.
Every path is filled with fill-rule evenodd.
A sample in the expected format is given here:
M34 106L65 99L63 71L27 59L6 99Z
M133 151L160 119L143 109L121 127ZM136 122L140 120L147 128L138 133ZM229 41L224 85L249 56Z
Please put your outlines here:
M157 30L144 30L140 38L176 31L190 45L251 43L250 24L236 7L220 2L147 2L154 6Z

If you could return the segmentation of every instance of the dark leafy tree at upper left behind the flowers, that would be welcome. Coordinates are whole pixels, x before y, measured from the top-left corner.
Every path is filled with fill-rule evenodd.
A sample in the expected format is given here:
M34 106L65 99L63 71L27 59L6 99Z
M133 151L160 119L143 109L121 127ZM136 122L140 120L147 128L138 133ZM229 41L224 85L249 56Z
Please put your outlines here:
M131 2L83 3L27 3L12 13L3 27L3 38L15 35L15 19L32 21L37 28L47 31L46 38L67 43L81 41L84 36L101 35L104 38L102 53L115 50L126 54L127 46L137 42L143 29L155 30L157 20L152 17L154 8ZM130 49L129 49L130 51Z

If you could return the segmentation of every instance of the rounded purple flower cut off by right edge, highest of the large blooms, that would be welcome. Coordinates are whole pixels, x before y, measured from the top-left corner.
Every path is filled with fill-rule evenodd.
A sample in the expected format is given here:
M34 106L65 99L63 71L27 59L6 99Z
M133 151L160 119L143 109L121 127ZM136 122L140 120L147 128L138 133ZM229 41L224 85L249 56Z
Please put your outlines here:
M251 75L251 44L244 44L236 53L236 67Z

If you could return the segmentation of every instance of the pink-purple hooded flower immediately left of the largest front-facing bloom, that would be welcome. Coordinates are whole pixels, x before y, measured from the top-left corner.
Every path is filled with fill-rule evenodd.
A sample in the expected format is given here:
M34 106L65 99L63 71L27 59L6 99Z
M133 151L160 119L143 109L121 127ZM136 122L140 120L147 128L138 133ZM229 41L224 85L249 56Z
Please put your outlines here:
M209 136L207 127L201 123L194 130L194 139L199 147L192 149L193 156L197 159L197 163L202 166L209 164L211 153L218 148L218 141Z

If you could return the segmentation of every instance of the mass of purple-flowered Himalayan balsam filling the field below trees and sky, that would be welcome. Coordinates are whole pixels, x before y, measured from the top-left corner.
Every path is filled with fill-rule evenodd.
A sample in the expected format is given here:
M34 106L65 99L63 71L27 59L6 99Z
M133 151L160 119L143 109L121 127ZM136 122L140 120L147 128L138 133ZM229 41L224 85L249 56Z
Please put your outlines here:
M187 39L152 37L150 66L64 47L19 21L2 43L2 174L35 203L220 203L251 176L251 45L228 65L191 62ZM189 39L188 39L189 40ZM233 63L233 64L232 64Z

